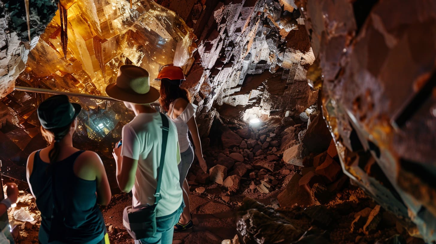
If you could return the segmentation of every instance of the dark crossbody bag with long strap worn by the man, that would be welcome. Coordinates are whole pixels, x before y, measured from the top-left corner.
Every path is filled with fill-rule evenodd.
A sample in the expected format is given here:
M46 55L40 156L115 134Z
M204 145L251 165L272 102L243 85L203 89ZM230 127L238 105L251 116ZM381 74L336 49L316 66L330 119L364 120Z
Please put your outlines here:
M160 113L160 117L162 118L162 152L160 153L156 193L154 194L156 199L151 206L147 205L139 209L133 209L132 206L129 206L123 211L123 225L135 240L153 237L156 234L156 206L162 198L160 196L160 183L162 182L162 173L164 172L165 151L167 149L169 131L167 116Z

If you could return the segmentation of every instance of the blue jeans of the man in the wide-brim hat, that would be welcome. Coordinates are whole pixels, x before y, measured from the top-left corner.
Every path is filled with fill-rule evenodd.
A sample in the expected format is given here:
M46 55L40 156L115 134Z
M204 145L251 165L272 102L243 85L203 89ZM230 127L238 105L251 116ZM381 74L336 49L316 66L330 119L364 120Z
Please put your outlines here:
M184 202L172 214L156 218L157 231L153 237L135 240L135 244L171 244L173 243L174 225L179 221L185 207Z

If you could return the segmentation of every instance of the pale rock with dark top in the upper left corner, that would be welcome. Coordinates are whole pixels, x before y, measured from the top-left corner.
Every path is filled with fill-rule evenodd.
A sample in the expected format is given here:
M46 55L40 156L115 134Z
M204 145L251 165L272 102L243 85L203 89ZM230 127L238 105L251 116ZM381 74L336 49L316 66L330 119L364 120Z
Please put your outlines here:
M29 52L56 10L54 0L35 0L27 8L25 1L0 1L0 98L13 91Z

